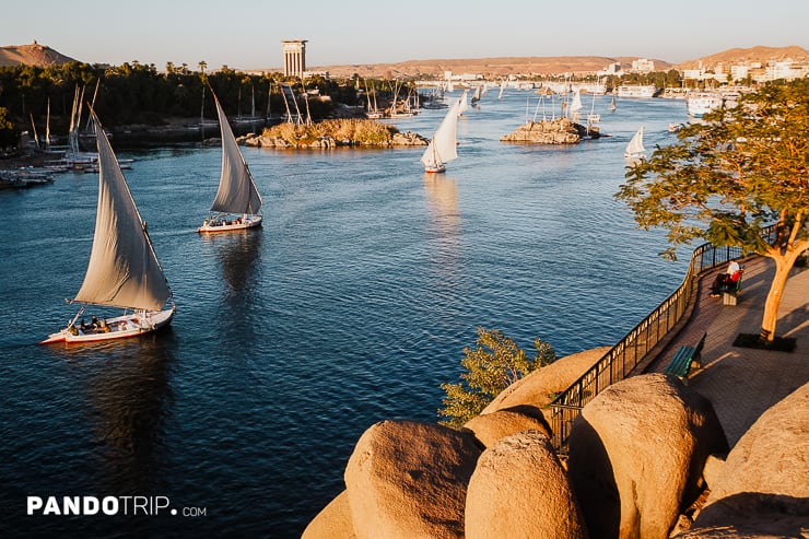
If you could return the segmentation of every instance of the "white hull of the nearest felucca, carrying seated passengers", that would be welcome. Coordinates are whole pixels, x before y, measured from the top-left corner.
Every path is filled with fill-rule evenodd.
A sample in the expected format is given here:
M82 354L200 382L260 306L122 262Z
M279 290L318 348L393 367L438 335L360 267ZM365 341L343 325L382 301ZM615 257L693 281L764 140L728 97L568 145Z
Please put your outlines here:
M114 318L105 318L105 328L82 330L73 327L65 328L56 333L50 333L39 344L65 342L66 344L82 344L87 342L109 341L114 339L127 339L139 337L144 333L156 331L168 326L174 318L174 306L163 310L150 310L146 313L130 313Z

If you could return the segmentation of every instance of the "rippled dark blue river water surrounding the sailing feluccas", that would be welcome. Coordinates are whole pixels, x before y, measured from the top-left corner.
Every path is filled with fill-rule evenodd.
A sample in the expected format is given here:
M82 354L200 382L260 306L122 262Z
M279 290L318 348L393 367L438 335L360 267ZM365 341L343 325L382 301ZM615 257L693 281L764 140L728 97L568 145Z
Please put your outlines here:
M442 175L423 173L421 148L245 148L265 202L245 234L195 232L218 147L119 151L177 304L169 329L141 339L37 344L74 314L63 300L83 279L97 176L0 191L0 536L300 537L344 489L365 429L438 420L439 384L458 380L477 327L559 355L632 329L688 254L663 260L664 233L613 198L623 149L641 125L647 149L673 142L684 103L609 113L599 96L611 137L548 148L500 142L537 96L495 94L459 120ZM430 137L443 114L396 125ZM28 496L121 505L30 516ZM125 515L125 496L151 505ZM166 500L177 515L154 507Z

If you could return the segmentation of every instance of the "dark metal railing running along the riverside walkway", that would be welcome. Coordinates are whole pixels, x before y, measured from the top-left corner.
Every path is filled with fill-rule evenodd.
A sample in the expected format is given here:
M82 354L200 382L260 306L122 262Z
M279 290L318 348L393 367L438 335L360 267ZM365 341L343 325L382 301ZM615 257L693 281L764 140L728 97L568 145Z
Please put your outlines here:
M771 244L774 231L775 226L771 226L764 233ZM716 247L712 244L703 244L694 249L685 279L675 293L549 405L550 413L546 414L546 420L553 431L552 443L556 450L567 443L573 421L582 408L609 385L626 378L649 350L680 321L694 293L695 279L704 271L743 255L740 247Z

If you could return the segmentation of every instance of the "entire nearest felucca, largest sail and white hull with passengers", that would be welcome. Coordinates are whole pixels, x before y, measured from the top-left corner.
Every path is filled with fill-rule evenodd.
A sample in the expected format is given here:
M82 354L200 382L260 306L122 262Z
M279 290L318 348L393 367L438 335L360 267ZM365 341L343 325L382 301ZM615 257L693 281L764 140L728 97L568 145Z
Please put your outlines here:
M171 324L172 290L163 274L118 160L91 108L98 149L98 204L95 235L84 282L75 298L82 307L68 327L40 342L83 343L136 337ZM87 305L124 308L124 314L84 324Z

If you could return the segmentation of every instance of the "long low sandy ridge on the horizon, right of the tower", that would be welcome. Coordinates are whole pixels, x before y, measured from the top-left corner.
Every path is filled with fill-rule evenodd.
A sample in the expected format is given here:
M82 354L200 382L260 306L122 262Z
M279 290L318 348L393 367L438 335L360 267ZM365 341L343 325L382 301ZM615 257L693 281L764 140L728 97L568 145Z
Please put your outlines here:
M486 77L507 77L517 73L565 73L599 71L610 63L620 62L623 69L630 69L637 57L609 58L602 56L555 56L555 57L506 57L506 58L467 58L459 60L407 60L396 63L354 63L348 66L309 67L312 71L328 71L333 77L403 77L414 74L443 75L444 71L453 73L480 73ZM654 60L655 69L671 69L671 63Z

